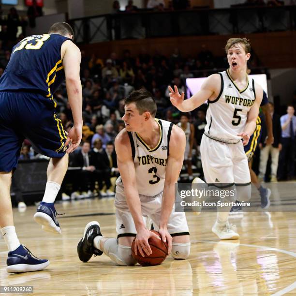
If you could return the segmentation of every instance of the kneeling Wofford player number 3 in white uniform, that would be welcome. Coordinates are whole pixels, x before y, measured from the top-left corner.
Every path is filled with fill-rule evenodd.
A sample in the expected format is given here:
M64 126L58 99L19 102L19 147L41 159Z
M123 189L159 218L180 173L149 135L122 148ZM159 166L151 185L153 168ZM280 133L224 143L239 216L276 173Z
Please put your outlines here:
M185 134L173 123L155 118L156 104L151 94L140 89L125 100L125 129L115 139L120 177L116 182L115 207L118 238L103 237L98 222L89 222L77 246L79 259L89 261L103 252L118 265L134 265L135 253L151 254L149 237L157 237L145 227L143 217L153 222L168 252L185 259L190 238L184 212L175 212L175 183L184 159Z

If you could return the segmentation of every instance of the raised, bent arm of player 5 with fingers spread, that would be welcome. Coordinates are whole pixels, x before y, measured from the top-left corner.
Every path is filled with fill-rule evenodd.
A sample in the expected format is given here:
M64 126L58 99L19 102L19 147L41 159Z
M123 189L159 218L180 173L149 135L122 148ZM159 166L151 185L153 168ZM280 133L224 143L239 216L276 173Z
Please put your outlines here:
M208 99L218 97L221 89L221 77L219 74L208 76L201 89L187 100L184 100L184 92L179 94L177 86L174 86L174 89L170 86L168 88L172 104L181 112L189 112L205 103Z

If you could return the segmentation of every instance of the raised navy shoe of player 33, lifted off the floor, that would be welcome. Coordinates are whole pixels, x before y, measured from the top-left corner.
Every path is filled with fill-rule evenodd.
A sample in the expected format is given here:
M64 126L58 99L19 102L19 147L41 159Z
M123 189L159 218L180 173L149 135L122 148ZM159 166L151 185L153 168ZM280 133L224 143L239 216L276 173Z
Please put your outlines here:
M42 229L47 232L60 234L59 222L57 220L57 211L54 203L41 202L37 207L34 220L42 225Z

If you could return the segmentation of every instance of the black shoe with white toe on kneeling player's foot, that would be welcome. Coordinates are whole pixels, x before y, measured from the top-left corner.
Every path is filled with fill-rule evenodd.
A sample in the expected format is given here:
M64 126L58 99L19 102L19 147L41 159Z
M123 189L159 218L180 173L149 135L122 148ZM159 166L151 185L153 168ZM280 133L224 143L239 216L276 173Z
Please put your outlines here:
M93 239L96 236L102 236L100 224L97 221L89 222L85 228L83 237L80 239L77 245L78 257L82 262L88 262L92 255L101 256L102 251L96 249L93 246Z

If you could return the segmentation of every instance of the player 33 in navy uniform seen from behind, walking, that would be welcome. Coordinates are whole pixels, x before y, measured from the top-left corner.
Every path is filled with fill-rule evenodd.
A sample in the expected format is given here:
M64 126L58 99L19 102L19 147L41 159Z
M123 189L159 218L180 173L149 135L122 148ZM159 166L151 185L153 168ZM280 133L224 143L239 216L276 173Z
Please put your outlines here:
M51 158L44 198L34 219L44 230L60 232L54 201L68 167L66 152L79 146L82 135L81 54L73 37L70 25L56 23L48 34L24 38L14 46L0 79L0 227L9 250L8 272L35 271L49 265L21 245L15 233L10 184L24 138L35 151ZM65 78L74 118L68 137L53 100Z

